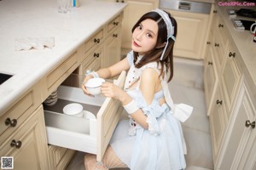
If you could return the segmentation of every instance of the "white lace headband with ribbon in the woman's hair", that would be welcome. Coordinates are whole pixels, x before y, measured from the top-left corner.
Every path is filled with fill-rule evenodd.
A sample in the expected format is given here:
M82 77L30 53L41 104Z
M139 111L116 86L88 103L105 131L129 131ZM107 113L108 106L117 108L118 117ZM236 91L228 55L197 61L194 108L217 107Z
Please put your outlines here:
M172 21L171 19L169 18L168 14L166 14L165 11L159 9L159 8L156 8L154 10L152 10L153 12L156 12L157 14L160 14L161 18L165 21L166 23L166 30L167 30L167 42L166 42L166 45L165 45L165 48L164 48L164 51L163 53L161 54L161 57L160 57L160 60L163 59L164 57L164 54L166 53L166 48L168 46L168 43L169 43L169 38L171 37L173 41L176 40L176 38L173 36L174 34L174 26L172 26Z

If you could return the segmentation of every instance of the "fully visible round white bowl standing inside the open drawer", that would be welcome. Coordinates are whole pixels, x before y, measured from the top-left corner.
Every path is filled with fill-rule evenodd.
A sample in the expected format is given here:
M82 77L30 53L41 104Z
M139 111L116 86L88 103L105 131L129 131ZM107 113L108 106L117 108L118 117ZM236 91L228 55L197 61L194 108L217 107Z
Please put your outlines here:
M84 108L83 105L77 103L68 104L63 108L63 113L69 116L83 117Z

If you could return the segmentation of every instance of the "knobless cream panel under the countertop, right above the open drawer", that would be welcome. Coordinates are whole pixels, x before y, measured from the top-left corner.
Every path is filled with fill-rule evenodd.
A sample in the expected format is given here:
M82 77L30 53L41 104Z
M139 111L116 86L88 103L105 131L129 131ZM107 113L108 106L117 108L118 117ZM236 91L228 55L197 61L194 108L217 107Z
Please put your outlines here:
M63 82L79 65L78 53L75 52L61 63L54 71L51 71L44 81L43 100L46 99L61 82Z

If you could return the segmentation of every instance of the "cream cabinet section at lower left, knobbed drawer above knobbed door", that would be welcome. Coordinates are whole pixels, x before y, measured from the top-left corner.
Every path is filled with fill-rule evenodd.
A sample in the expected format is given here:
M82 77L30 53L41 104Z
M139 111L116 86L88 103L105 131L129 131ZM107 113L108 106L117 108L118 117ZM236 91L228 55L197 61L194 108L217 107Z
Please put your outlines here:
M0 117L0 156L13 156L15 169L49 169L40 89L34 85Z

